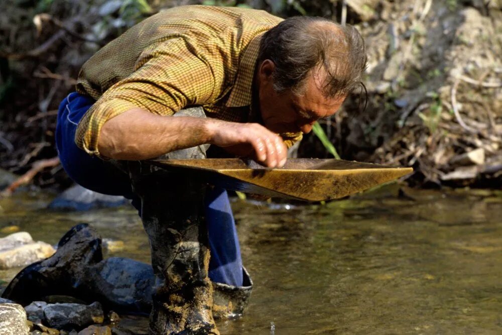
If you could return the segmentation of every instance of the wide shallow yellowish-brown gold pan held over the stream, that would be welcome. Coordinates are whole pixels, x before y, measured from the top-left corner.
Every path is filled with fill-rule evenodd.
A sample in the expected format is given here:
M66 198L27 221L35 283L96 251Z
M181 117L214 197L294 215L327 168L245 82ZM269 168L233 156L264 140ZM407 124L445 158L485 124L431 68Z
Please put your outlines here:
M322 201L342 198L413 172L412 168L336 159L290 158L282 168L266 168L252 160L168 159L152 164L183 169L210 184L271 197Z

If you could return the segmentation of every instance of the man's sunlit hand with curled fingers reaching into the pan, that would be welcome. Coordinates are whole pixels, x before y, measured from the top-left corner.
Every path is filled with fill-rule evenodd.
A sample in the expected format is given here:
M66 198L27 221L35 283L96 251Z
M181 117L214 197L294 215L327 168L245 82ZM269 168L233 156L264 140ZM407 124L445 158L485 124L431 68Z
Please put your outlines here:
M223 148L247 144L253 149L250 156L255 156L268 167L282 167L286 163L288 150L282 138L262 125L213 121L210 127L211 144Z

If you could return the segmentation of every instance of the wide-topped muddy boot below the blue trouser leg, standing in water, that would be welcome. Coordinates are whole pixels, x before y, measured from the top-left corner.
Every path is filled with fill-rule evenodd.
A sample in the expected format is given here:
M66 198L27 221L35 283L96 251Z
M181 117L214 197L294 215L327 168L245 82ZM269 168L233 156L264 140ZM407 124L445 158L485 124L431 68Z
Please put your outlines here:
M215 319L232 319L241 316L244 312L253 290L253 281L244 268L242 268L242 277L242 286L212 282Z

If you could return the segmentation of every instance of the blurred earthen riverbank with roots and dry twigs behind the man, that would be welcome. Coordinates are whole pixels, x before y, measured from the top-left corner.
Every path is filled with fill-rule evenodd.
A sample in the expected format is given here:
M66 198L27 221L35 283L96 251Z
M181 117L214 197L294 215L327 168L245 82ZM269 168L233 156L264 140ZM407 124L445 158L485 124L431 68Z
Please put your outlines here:
M343 159L411 166L418 187L502 187L502 10L499 0L191 1L254 7L282 17L354 24L366 40L364 83L322 121ZM177 0L0 4L0 168L23 174L56 156L59 101L99 48ZM345 4L345 6L343 5ZM364 94L363 94L364 96ZM299 157L329 157L314 135ZM41 186L65 188L58 165Z

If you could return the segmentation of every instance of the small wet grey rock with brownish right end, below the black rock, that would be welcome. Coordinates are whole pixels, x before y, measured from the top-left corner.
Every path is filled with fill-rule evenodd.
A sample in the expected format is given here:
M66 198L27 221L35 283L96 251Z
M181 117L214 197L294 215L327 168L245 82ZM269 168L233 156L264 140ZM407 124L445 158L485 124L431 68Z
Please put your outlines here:
M54 328L81 329L93 323L102 323L103 320L103 309L99 302L90 305L57 303L44 308L44 323Z

